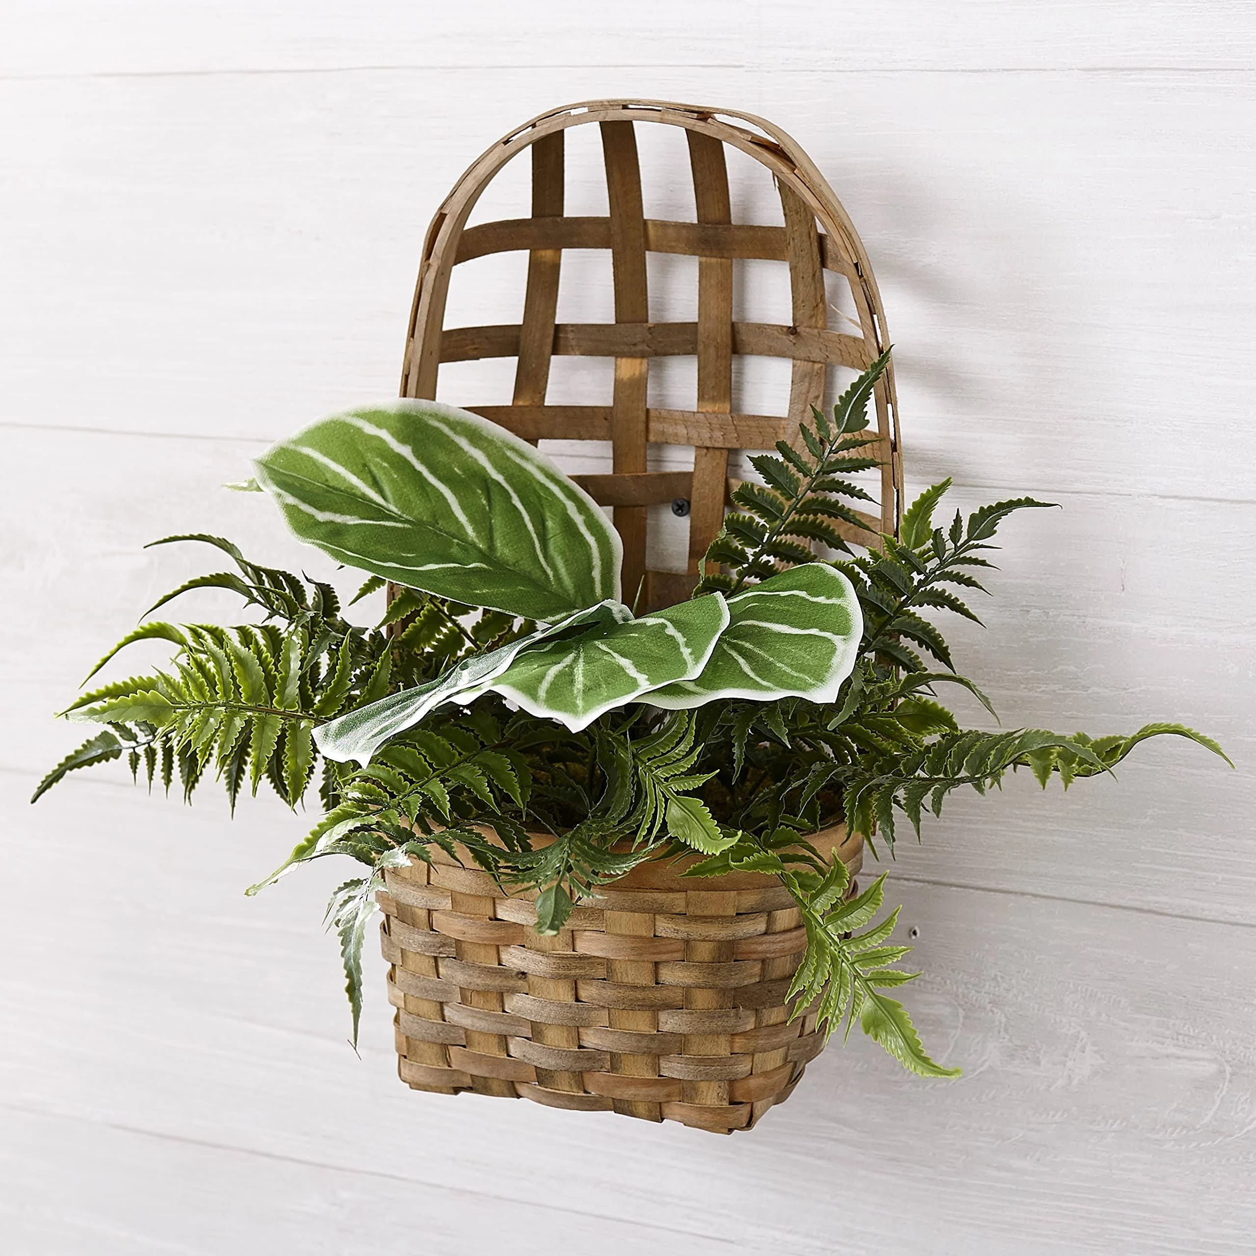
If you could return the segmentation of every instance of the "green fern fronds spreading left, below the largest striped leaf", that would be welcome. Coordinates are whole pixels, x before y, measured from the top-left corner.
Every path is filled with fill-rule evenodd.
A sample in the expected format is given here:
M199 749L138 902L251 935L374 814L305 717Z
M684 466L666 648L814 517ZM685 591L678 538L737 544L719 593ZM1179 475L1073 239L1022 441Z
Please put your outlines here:
M212 769L232 809L246 784L255 794L263 782L295 806L318 770L315 728L392 691L412 692L447 664L533 627L407 592L389 604L377 628L362 628L343 618L335 590L325 583L252 563L219 536L167 536L153 544L173 541L211 545L235 560L239 574L196 577L151 609L212 588L236 593L264 622L232 628L153 622L128 633L88 679L137 642L167 641L178 649L166 668L93 690L67 708L67 718L104 723L107 731L58 764L35 799L68 772L126 754L132 772L142 774L149 788L160 776L168 791L177 777L187 800ZM342 771L324 764L324 803L335 799Z

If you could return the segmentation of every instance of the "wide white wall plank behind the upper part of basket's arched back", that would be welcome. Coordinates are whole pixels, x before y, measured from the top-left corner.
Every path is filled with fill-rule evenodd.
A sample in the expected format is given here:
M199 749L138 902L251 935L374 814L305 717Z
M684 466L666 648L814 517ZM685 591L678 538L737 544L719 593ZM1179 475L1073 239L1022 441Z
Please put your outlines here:
M491 78L456 127L430 124L452 116L445 87L401 72L0 83L24 119L0 141L0 421L274 437L393 393L430 214L554 102L550 72ZM916 474L1256 500L1256 396L1233 367L1256 339L1256 75L649 78L741 97L830 173L880 280ZM746 216L772 195L760 175ZM573 317L607 283L578 284ZM468 319L517 318L517 279L475 291ZM446 379L471 401L500 374Z

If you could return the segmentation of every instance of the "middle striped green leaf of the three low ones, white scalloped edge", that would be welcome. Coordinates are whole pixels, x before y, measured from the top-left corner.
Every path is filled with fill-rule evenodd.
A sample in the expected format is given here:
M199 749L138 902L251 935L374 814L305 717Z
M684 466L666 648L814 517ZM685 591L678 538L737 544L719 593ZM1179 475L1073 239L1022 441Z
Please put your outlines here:
M571 639L529 646L484 690L579 732L659 686L698 676L727 625L728 604L707 594L639 619L603 622Z

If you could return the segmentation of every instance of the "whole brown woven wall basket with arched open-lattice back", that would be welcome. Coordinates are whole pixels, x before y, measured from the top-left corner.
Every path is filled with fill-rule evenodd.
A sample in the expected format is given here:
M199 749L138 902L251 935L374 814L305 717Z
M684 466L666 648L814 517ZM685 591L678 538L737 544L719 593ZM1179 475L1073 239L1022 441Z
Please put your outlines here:
M564 216L564 137L597 123L607 217ZM646 219L637 123L683 129L695 221ZM782 226L732 222L725 146L754 157L775 181ZM467 226L485 187L531 151L531 216ZM609 250L614 323L556 323L566 249ZM519 323L447 328L453 268L489 254L526 251ZM695 256L697 320L652 322L648 251ZM734 319L739 261L789 268L791 308L781 323ZM825 273L849 285L854 320L830 325ZM515 306L517 309L517 305ZM857 329L857 330L855 330ZM749 114L654 100L595 100L541 114L494 144L436 212L423 247L402 373L402 396L435 398L441 363L515 358L512 402L467 409L528 441L609 441L612 472L575 479L613 507L623 539L623 588L644 608L690 595L698 560L720 530L730 455L798 440L798 423L825 403L831 367L863 371L888 343L872 268L845 211L784 132ZM548 404L554 354L614 359L609 397ZM697 359L693 409L648 404L649 362ZM735 406L737 357L789 359L775 414ZM902 485L893 368L875 391L870 446L882 461L875 531L894 533ZM693 448L692 471L649 470L647 446ZM860 451L863 452L863 451ZM672 504L688 520L685 570L649 570L648 510ZM867 540L852 529L852 538ZM842 844L843 829L816 842ZM862 844L840 845L857 868ZM803 952L796 908L774 878L737 874L693 882L648 864L577 908L554 938L530 928L528 896L504 897L474 867L435 854L428 868L391 870L381 902L389 992L397 1006L401 1076L420 1090L520 1095L560 1108L613 1109L702 1129L747 1129L798 1083L821 1046L813 1019L788 1024L785 990ZM535 897L535 896L533 896Z

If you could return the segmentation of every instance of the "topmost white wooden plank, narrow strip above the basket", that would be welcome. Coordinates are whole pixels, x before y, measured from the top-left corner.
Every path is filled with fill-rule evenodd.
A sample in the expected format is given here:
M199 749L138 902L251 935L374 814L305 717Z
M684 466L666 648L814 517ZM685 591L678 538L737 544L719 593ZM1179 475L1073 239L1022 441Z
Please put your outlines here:
M1256 23L1245 0L548 0L528 21L509 0L383 0L369 18L337 0L9 0L0 14L11 77L589 64L1250 70Z

